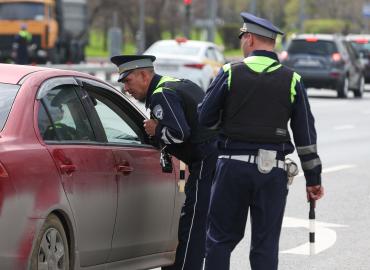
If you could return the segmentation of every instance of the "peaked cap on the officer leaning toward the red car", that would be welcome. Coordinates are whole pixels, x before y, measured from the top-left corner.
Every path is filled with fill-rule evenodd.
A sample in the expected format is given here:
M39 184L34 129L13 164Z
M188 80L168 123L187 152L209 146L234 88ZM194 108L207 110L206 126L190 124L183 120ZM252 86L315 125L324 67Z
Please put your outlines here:
M113 56L111 62L118 67L118 82L126 78L133 70L139 68L153 67L155 56L153 55L117 55Z

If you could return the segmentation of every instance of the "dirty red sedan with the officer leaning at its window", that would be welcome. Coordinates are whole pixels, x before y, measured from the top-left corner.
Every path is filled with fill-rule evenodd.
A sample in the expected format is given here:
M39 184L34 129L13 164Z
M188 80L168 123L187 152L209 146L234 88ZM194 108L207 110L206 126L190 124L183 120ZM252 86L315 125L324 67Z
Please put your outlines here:
M173 263L184 196L145 116L88 74L0 64L0 269Z

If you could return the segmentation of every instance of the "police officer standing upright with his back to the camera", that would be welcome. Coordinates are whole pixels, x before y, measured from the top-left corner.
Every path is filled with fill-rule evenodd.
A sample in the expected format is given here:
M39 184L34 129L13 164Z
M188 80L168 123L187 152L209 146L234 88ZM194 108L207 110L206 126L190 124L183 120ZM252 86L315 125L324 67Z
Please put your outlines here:
M285 210L285 155L294 151L288 121L306 177L308 199L323 196L316 131L301 77L273 52L277 34L268 20L241 13L240 44L246 57L226 64L199 106L199 120L220 126L220 156L212 187L205 269L226 270L251 216L253 270L278 267Z

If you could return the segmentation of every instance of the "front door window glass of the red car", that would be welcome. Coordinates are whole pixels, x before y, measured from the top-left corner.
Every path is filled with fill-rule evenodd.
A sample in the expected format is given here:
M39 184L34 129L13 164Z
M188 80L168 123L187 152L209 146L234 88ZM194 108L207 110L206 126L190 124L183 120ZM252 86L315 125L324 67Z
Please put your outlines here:
M135 123L107 99L95 97L95 109L109 143L142 144Z

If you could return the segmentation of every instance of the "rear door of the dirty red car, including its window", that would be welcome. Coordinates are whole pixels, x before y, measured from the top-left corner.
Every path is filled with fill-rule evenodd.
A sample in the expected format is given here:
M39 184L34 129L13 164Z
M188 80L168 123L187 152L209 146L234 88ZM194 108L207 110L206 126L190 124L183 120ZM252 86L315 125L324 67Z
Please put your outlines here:
M51 79L38 92L38 126L58 167L76 224L81 266L107 261L117 208L111 148L98 142L77 82Z

